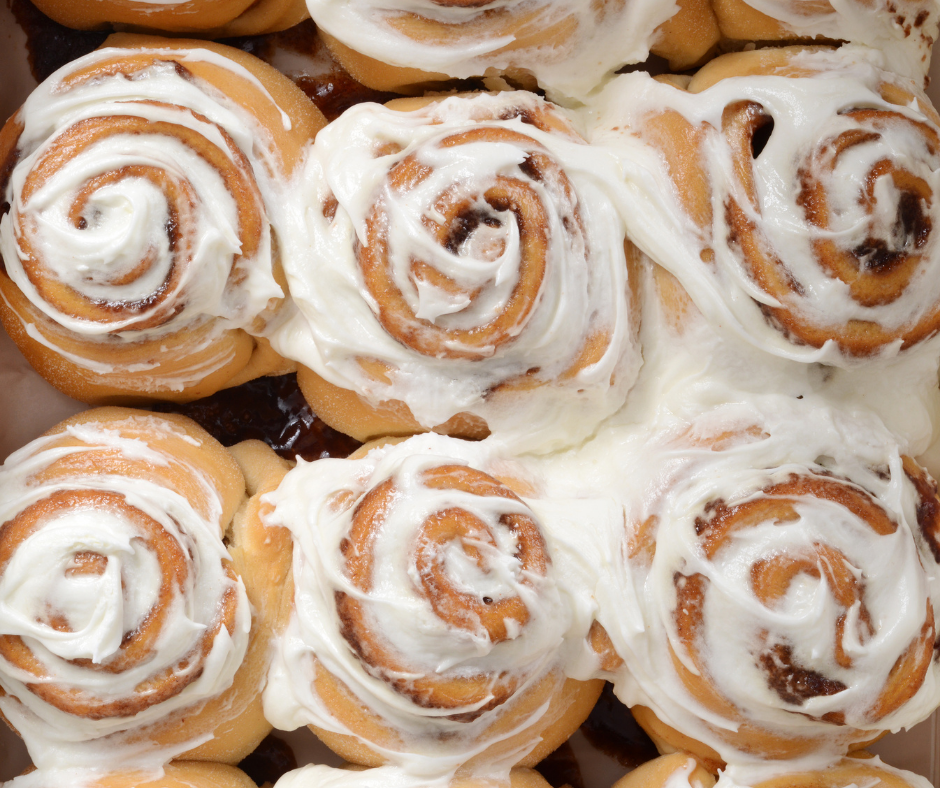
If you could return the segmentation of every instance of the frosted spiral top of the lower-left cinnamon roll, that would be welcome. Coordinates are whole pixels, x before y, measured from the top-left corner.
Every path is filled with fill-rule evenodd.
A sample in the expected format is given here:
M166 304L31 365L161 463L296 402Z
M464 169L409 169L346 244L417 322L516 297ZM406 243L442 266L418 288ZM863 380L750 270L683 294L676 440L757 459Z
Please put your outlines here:
M164 437L175 431L155 417L141 416L138 426ZM122 474L111 462L97 475L63 473L89 452L122 458L131 472ZM195 468L185 472L201 503L161 484L160 469L181 462L91 422L27 445L0 470L0 536L7 544L0 710L40 767L100 768L103 753L112 764L165 762L200 742L158 750L140 731L219 695L242 663L251 606L241 580L226 568L218 493ZM156 478L135 478L141 466L154 469ZM177 554L188 568L174 568ZM94 571L86 571L92 558ZM235 605L233 628L218 627L200 657L227 596ZM141 644L131 651L125 651L128 633ZM27 671L11 661L17 643L46 679L37 682L35 667ZM140 649L146 658L134 656ZM174 682L179 690L165 693ZM46 683L59 700L42 697ZM154 700L140 707L148 696L142 688L150 685ZM63 693L70 698L64 705Z

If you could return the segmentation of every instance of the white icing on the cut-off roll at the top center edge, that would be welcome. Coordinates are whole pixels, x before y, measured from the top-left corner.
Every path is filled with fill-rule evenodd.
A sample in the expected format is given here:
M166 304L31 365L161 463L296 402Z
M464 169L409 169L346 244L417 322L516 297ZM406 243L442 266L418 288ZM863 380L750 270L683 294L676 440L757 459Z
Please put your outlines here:
M647 58L656 28L676 13L672 2L625 0L493 0L475 6L444 7L434 0L307 0L318 27L358 52L395 66L474 77L493 70L523 70L560 96L585 96L605 77L627 63ZM446 26L464 25L462 35L420 41L398 29L396 22L414 14ZM511 32L500 35L497 21L488 33L474 34L487 18L518 18L528 36L570 28L570 35L551 45L519 46ZM446 28L445 28L446 29ZM355 34L352 34L355 31Z

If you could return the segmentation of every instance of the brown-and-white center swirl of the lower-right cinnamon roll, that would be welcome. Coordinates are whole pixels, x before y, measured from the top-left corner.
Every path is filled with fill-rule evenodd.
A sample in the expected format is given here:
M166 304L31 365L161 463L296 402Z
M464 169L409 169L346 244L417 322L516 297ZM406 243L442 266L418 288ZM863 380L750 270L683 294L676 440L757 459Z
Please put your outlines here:
M879 540L890 551L898 526L861 488L794 474L739 503L711 501L694 530L699 571L676 572L673 585L681 653L696 670L670 651L683 682L706 705L732 719L749 715L719 667L715 629L707 623L715 616L733 615L748 630L742 641L748 661L783 708L825 722L843 725L851 716L850 724L876 723L926 679L934 641L930 601L917 603L922 625L913 638L892 634L885 607L891 592L882 588L872 557ZM859 699L859 688L871 682L857 671L871 669L872 655L892 648L879 659L877 690Z

